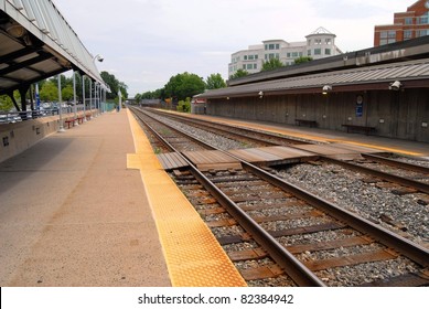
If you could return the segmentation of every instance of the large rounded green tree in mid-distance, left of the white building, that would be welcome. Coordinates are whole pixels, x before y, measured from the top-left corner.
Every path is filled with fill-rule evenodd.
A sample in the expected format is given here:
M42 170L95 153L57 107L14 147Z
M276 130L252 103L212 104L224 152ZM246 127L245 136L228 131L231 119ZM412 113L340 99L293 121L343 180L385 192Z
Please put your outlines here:
M199 75L185 72L171 77L164 88L168 97L179 102L203 93L205 83Z

